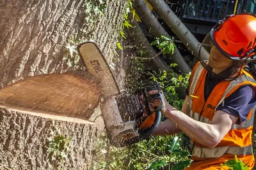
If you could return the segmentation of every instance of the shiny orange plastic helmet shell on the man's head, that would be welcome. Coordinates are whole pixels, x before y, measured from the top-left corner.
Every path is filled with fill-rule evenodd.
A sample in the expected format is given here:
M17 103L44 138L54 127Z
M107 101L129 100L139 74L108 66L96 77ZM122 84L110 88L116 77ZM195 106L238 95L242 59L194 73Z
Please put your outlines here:
M214 27L211 33L214 45L231 59L240 60L255 54L256 17L252 15L229 17Z

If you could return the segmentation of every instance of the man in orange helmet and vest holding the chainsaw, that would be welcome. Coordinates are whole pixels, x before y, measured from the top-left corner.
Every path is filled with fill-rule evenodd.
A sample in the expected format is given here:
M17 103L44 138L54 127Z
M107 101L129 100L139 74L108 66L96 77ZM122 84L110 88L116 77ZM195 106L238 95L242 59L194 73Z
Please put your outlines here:
M229 16L208 36L211 43L206 46L212 45L209 61L201 60L193 68L181 111L164 99L161 112L168 119L154 135L184 132L191 138L194 161L187 169L225 169L220 165L235 155L252 169L256 82L242 68L256 58L256 18Z

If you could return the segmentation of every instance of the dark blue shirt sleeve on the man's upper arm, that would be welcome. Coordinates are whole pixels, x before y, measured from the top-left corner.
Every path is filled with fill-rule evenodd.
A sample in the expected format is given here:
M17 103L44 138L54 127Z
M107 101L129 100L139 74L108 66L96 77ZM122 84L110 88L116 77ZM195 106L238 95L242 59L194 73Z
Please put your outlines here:
M238 117L236 124L241 124L246 120L248 113L255 106L255 90L248 85L239 87L234 93L230 94L224 103L221 103L217 110L222 110L234 117Z

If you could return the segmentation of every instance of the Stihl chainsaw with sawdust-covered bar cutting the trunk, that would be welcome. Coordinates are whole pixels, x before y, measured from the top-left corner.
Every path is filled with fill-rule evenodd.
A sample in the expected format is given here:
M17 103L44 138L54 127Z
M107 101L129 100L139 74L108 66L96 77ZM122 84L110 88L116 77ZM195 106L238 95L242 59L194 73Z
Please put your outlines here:
M161 122L161 108L164 107L159 84L152 83L131 96L122 94L99 47L87 41L77 49L88 72L102 85L100 110L111 145L127 146L149 138ZM149 95L151 90L157 93ZM160 106L153 106L154 100L160 101Z

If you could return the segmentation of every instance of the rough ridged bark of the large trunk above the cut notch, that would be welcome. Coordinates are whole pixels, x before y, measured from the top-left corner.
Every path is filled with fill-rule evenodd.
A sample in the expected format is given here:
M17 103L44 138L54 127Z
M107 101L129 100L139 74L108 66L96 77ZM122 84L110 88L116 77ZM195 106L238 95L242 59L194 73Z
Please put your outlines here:
M113 58L125 1L108 1L104 16L95 18L96 24L85 21L88 13L84 13L83 3L82 0L0 3L1 87L26 76L76 70L77 67L69 67L63 61L67 39L72 36L93 39L109 61Z

